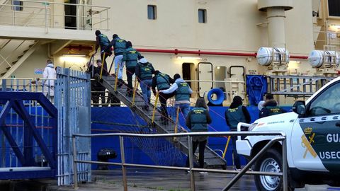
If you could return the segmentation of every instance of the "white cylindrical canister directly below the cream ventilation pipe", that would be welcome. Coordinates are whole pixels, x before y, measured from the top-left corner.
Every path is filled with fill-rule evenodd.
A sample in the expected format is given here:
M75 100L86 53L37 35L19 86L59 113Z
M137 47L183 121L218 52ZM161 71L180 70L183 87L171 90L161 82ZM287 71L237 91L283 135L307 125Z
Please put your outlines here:
M284 53L285 57L282 58ZM289 52L285 48L260 47L257 51L256 58L261 66L268 66L272 62L280 62L280 60L282 63L288 63Z

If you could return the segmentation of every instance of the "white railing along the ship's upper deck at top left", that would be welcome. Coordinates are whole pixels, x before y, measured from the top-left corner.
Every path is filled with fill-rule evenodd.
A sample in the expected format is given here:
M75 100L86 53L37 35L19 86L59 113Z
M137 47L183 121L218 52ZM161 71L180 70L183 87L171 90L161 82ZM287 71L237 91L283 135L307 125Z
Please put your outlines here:
M11 1L8 1L11 3ZM76 30L108 30L108 6L66 4L48 1L23 0L22 5L6 3L1 5L0 25L45 28L67 28ZM74 13L65 13L65 6ZM21 9L21 11L16 11ZM74 25L65 20L74 20Z

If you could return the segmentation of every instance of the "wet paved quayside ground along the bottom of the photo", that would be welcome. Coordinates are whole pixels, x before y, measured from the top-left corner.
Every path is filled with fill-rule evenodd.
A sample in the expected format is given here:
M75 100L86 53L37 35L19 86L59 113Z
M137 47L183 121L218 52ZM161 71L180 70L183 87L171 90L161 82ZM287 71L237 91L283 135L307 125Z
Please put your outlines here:
M233 175L208 173L195 173L196 190L222 190L231 180ZM79 185L79 191L102 191L102 190L123 190L121 170L96 170L93 173L94 182ZM21 180L21 181L0 181L1 191L71 191L72 187L57 187L56 180ZM190 175L179 170L150 170L150 169L129 169L128 170L129 191L188 191L190 190ZM232 190L256 190L254 178L246 175L240 179ZM307 185L305 190L340 190L340 188L327 185Z

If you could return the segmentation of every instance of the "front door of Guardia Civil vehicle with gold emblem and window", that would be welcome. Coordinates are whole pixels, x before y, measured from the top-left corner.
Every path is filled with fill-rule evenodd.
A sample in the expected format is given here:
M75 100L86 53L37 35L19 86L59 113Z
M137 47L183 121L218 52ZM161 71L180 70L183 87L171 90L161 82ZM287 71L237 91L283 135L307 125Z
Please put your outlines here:
M306 105L295 120L293 161L300 170L340 170L340 82L331 84Z

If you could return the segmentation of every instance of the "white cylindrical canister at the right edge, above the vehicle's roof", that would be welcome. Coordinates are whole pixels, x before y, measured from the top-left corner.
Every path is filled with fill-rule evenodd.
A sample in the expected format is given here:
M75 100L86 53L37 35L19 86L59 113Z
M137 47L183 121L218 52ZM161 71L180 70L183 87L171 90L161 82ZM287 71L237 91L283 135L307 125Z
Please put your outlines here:
M339 54L336 51L312 50L308 56L308 62L313 68L319 68L324 63L337 65L339 59Z

